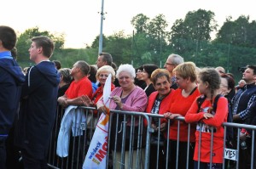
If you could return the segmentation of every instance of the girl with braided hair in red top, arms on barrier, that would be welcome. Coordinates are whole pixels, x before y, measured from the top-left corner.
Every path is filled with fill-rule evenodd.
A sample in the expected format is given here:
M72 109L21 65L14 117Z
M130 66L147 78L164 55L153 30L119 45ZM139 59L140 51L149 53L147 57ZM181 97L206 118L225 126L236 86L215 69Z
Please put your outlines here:
M212 68L201 70L198 75L198 89L201 96L195 100L185 115L186 122L197 122L195 168L200 165L201 169L220 169L223 166L224 127L222 123L227 121L228 101L224 97L219 97L216 108L214 108L213 103L218 95L219 85L220 76L216 70ZM202 100L201 105L199 100ZM213 139L211 139L212 132Z

